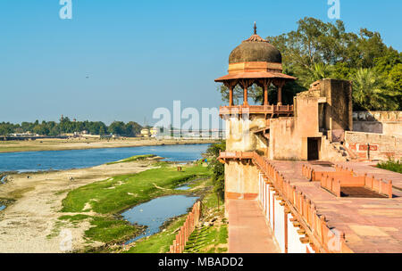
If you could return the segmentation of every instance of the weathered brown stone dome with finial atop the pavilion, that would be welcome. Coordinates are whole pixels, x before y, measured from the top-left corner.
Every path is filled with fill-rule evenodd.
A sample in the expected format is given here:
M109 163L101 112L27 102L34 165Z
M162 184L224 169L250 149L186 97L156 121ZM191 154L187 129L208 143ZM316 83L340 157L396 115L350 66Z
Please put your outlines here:
M255 34L236 47L229 57L229 63L271 62L281 63L281 52L267 40Z

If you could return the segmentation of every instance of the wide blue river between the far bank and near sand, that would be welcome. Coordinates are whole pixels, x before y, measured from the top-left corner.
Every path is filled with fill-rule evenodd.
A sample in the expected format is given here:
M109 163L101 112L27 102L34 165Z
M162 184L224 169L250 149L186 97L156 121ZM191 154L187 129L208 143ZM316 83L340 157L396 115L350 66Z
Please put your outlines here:
M201 159L209 144L141 146L131 148L0 153L1 171L91 168L135 155L155 154L168 161Z

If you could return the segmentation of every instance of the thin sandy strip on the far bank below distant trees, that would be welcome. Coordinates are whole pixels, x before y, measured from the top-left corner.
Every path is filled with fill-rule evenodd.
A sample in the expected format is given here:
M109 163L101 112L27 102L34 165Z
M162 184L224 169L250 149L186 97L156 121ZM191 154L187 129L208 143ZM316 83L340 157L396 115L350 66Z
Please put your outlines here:
M102 148L126 148L138 146L173 145L173 144L210 144L216 140L156 140L140 138L124 139L43 139L35 141L5 141L0 142L0 152L38 152L38 151L63 151L85 150Z

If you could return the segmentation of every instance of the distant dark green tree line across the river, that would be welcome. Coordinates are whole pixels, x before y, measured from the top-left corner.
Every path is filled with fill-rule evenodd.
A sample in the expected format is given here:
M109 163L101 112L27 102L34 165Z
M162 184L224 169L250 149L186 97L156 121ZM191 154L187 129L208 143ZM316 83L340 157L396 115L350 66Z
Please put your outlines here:
M141 127L137 122L130 121L124 123L122 121L113 121L109 126L102 121L71 121L69 118L60 119L60 122L42 121L22 122L21 124L13 124L10 122L0 123L0 136L9 134L33 133L40 136L60 136L62 134L80 133L88 131L91 135L119 135L119 136L137 136Z

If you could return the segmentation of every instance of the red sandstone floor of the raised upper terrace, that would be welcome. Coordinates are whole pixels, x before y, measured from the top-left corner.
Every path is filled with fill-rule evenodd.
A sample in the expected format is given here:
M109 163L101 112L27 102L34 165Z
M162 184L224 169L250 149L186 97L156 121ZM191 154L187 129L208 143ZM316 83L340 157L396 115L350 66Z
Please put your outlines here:
M314 202L318 213L325 216L328 225L346 234L348 247L355 252L402 252L402 174L373 168L373 163L345 162L339 165L353 169L357 174L393 181L392 199L337 198L311 183L302 175L307 162L272 161L292 185L296 185ZM311 165L310 165L311 166ZM335 171L328 166L313 165L316 171Z

